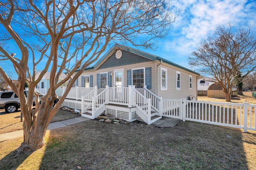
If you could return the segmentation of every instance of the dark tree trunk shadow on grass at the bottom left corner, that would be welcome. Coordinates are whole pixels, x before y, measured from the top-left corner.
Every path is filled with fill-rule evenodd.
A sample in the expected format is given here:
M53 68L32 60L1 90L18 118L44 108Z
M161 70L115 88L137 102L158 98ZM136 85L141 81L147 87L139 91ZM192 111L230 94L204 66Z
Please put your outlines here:
M22 162L24 162L24 160L26 160L35 151L36 150L24 151L21 150L20 147L16 150L13 150L0 160L0 169L17 169L22 164Z

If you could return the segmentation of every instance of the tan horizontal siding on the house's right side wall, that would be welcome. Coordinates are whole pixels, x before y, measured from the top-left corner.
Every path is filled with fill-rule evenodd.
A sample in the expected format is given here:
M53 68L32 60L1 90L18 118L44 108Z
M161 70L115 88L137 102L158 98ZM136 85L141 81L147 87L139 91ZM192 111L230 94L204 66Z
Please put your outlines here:
M161 91L161 67L167 69L167 90ZM180 89L176 89L176 71L180 72ZM189 89L189 75L192 76L192 89ZM158 66L158 96L163 99L182 99L192 95L196 97L196 75L168 65Z

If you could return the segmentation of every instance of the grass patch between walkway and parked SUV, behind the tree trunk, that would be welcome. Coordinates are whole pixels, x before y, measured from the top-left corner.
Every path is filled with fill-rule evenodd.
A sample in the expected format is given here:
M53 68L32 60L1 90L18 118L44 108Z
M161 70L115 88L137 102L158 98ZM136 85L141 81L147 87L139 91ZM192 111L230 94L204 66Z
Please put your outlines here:
M80 117L79 113L72 113L71 111L64 111L60 109L52 119L51 123L64 121ZM20 122L20 111L15 113L6 113L0 110L0 134L22 130L22 122Z

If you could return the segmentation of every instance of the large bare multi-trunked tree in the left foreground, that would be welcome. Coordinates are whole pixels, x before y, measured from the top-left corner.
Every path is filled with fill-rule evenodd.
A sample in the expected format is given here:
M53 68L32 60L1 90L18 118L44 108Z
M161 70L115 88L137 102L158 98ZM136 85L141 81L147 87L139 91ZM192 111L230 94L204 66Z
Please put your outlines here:
M5 28L0 35L0 56L13 63L18 84L1 67L0 73L20 98L24 117L21 148L26 149L44 145L46 129L73 83L110 42L154 48L152 40L164 38L179 14L177 10L172 12L169 0L6 0L0 2L0 10L0 23ZM8 43L15 43L20 55L15 55ZM45 68L36 78L36 67L42 64ZM74 75L78 68L80 71ZM50 88L41 105L36 95L33 111L34 89L49 69ZM62 72L67 77L58 82ZM30 89L28 101L23 92L26 81ZM55 90L66 81L66 91L52 109Z

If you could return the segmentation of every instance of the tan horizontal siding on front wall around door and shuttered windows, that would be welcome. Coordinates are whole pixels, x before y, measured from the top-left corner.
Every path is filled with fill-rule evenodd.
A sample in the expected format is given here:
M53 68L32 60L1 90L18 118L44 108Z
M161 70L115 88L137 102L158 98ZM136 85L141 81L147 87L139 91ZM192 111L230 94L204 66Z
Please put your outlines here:
M98 73L106 73L106 72L112 72L111 76L111 85L114 87L114 70L118 69L124 69L124 87L127 87L127 70L130 69L137 69L137 68L146 68L146 67L151 67L151 85L153 93L155 93L155 68L154 68L154 61L150 62L144 62L144 63L137 63L137 64L132 64L132 65L124 65L124 66L119 66L119 67L111 67L111 68L106 68L106 69L98 69L95 71L85 71L83 72L79 78L78 78L78 87L82 87L82 76L87 76L87 75L92 75L92 85L93 87L97 85L97 74ZM98 89L98 93L101 93L104 89Z

